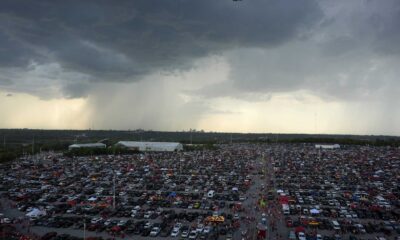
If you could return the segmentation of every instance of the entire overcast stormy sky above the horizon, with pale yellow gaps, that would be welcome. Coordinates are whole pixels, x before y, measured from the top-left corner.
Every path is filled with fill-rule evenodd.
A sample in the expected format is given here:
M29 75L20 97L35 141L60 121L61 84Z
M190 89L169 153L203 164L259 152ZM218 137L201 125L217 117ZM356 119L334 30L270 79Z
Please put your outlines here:
M0 2L0 128L400 135L398 0Z

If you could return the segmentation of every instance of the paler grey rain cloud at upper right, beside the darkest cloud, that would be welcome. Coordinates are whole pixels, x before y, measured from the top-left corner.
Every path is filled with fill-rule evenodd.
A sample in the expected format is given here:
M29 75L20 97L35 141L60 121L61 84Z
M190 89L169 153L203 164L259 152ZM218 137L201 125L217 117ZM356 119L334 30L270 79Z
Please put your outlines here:
M229 80L195 92L260 100L308 90L326 99L398 104L389 96L400 94L400 1L321 1L321 9L324 18L307 39L227 51Z

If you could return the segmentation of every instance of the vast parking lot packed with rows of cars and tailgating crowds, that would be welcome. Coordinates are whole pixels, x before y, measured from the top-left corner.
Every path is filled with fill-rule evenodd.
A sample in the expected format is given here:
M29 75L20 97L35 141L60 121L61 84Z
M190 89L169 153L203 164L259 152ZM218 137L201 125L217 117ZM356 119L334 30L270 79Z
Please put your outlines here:
M399 164L397 148L305 144L43 153L1 166L1 225L45 240L398 239Z

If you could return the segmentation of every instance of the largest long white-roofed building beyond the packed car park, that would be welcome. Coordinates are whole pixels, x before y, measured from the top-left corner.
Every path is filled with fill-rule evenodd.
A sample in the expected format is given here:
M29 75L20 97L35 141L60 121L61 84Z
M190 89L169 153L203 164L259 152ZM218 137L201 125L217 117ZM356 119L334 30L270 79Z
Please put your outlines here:
M141 152L174 152L183 150L183 145L178 142L120 141L116 144L116 146Z

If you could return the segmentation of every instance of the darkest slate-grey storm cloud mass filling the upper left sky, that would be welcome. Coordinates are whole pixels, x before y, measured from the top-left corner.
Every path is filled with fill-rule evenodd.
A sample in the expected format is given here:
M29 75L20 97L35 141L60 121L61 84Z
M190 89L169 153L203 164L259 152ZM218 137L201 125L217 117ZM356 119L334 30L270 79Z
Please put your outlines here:
M90 81L137 81L227 49L277 46L322 17L311 0L5 0L0 6L1 67L58 63ZM75 89L71 96L80 95Z

